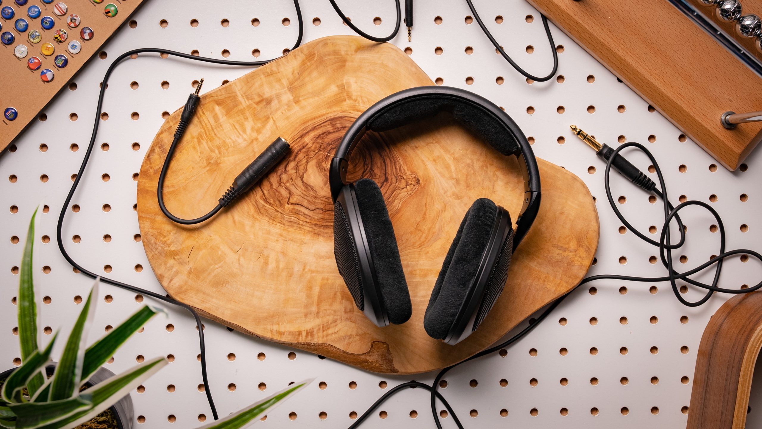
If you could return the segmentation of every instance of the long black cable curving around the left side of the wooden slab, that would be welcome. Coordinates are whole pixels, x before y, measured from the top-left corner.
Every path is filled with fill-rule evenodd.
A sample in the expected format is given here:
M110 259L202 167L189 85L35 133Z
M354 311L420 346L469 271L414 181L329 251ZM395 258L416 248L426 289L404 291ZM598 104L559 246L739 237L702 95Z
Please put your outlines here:
M296 17L299 21L299 35L296 37L296 43L293 45L291 50L296 49L299 47L299 45L302 44L302 37L304 34L304 22L302 19L302 10L299 8L299 0L293 0L294 8L296 9ZM207 58L205 56L195 56L188 53L182 53L177 52L173 50L165 50L165 49L159 49L159 48L141 48L136 50L130 50L126 53L121 54L120 56L117 56L116 60L114 60L113 63L108 67L106 74L104 75L104 79L101 82L101 92L98 94L98 105L95 111L95 122L93 125L93 131L90 137L90 143L88 144L88 150L85 151L85 157L82 159L82 165L79 166L79 170L77 173L77 176L74 179L74 182L72 183L72 188L69 189L69 194L66 195L66 199L63 202L63 205L61 207L61 213L58 216L58 224L56 227L56 240L58 240L58 248L61 251L62 256L66 261L74 267L74 269L82 274L85 274L85 276L89 276L91 278L98 277L97 274L88 271L88 269L85 269L83 266L79 265L75 260L72 259L72 256L69 256L69 253L66 251L66 247L63 245L63 239L62 239L62 227L63 227L63 218L66 216L66 210L69 208L69 204L72 202L72 197L74 196L74 192L77 189L77 186L79 185L79 181L82 179L82 175L85 173L85 167L88 165L88 160L90 160L90 156L92 154L93 147L95 145L95 137L98 135L98 125L100 124L100 118L101 118L101 109L103 107L103 98L106 92L106 87L108 83L108 79L111 76L111 73L114 72L114 69L116 69L117 65L121 63L122 60L125 60L126 58L130 57L134 54L140 54L140 53L168 53L172 56L179 56L181 58L185 58L187 60L195 60L195 61L203 61L205 63L215 63L215 64L223 64L227 66L262 66L264 64L270 63L272 60L259 60L259 61L232 61L232 60L219 60L216 58ZM207 352L206 352L206 346L204 345L203 340L203 325L201 324L201 319L199 318L196 311L187 304L184 304L182 302L178 302L172 298L168 298L165 295L160 295L156 292L151 292L146 289L142 289L133 285L128 285L123 282L119 282L114 279L108 279L107 277L101 276L101 282L115 285L117 287L130 290L132 292L139 293L141 295L150 296L152 298L158 299L163 302L167 302L168 304L178 305L178 307L184 308L187 311L190 311L191 314L193 314L194 320L196 321L196 328L198 331L198 337L199 337L199 348L200 348L200 356L201 356L201 377L203 379L203 386L204 386L204 392L207 394L207 402L209 402L209 407L211 408L212 415L215 420L219 418L217 415L217 409L214 406L214 401L212 399L212 393L209 389L209 381L207 379Z

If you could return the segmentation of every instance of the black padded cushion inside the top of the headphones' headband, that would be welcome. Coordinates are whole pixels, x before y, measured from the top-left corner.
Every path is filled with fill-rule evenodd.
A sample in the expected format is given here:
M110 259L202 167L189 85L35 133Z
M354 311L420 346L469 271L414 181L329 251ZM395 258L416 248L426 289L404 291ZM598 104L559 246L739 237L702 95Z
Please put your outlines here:
M491 112L452 95L427 95L399 102L371 118L368 121L368 129L376 132L387 131L433 117L440 111L450 111L456 121L503 155L520 153L521 149L514 134Z

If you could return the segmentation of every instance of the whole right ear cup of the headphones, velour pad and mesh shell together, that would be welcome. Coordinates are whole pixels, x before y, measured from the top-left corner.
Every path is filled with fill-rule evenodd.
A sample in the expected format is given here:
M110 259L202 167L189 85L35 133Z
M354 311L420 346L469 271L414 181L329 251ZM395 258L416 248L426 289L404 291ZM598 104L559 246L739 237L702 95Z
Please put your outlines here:
M507 231L507 237L503 238L506 224L509 231ZM460 319L470 318L475 311L476 319L473 325L475 329L475 326L481 323L494 305L502 292L505 276L507 276L507 264L510 263L513 250L512 244L509 243L512 243L513 237L510 225L511 220L507 211L488 198L479 198L466 212L453 244L450 245L450 250L444 258L426 308L424 328L430 337L447 340L454 335L454 338L448 342L457 343L471 333L472 327L466 327L465 336L462 335L463 332L453 334L456 322L462 324ZM495 241L495 237L498 237L499 243ZM498 254L485 257L490 256L485 254L487 250ZM487 260L490 266L482 266ZM487 269L486 272L485 269ZM502 280L495 274L501 276ZM482 278L486 282L483 286L484 293L475 296L476 280ZM471 302L475 299L479 299L479 302ZM477 308L464 315L469 304L477 305Z

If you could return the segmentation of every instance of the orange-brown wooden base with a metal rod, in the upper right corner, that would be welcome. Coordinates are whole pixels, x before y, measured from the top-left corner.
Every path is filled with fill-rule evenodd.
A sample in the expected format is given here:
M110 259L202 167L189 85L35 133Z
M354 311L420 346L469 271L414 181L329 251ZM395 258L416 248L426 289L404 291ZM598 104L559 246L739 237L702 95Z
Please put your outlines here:
M669 2L528 1L726 168L759 143L762 123L720 116L762 110L762 78Z

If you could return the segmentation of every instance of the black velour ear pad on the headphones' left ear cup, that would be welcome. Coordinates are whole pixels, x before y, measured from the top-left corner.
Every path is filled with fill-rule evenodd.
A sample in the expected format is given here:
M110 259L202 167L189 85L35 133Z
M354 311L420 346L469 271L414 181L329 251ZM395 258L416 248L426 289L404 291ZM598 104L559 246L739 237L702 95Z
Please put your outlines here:
M372 179L360 179L354 184L354 194L389 322L405 323L413 312L410 292L381 189Z

